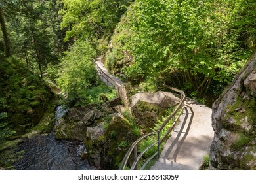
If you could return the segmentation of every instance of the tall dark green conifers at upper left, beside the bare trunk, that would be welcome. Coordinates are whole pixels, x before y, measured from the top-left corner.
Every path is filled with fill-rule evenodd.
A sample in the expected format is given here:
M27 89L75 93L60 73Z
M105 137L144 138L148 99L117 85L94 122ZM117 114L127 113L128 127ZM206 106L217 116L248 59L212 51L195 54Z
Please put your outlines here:
M18 2L20 7L26 7L17 8L16 16L8 19L11 50L26 63L27 69L43 75L48 63L56 63L59 54L60 44L55 41L58 36L51 24L57 18L53 18L54 5L49 5L50 1L29 1L30 5Z

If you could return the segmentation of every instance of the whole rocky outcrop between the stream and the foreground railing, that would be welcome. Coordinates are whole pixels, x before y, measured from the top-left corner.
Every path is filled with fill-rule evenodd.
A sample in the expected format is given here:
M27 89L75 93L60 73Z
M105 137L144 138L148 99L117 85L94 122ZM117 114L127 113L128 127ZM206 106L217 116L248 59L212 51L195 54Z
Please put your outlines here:
M129 146L179 101L168 92L137 93L130 98L127 84L119 90L124 90L120 97L106 103L68 108L54 125L56 139L83 141L87 149L83 156L98 169L118 169Z

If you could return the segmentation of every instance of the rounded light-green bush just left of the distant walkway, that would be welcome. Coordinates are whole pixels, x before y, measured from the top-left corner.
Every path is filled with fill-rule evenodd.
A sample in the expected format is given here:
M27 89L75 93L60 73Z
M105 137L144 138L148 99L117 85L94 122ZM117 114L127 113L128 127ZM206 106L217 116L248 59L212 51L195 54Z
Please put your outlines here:
M56 81L71 100L82 99L86 90L96 86L94 56L95 50L89 42L76 41L70 52L66 52Z

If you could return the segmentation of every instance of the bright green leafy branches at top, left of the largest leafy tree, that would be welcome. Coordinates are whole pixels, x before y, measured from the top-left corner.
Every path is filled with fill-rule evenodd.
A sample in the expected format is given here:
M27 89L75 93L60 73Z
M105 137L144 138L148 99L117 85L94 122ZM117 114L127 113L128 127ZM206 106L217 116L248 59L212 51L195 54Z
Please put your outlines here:
M71 37L78 39L100 39L112 33L119 18L125 12L129 0L64 0L61 27L71 27L66 31L66 40Z

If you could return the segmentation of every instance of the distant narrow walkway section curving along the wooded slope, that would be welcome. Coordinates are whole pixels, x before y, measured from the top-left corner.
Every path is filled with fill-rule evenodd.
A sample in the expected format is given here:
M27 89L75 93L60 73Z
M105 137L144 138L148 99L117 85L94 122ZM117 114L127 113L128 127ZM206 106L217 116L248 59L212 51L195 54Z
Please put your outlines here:
M110 75L110 73L108 73L108 70L104 67L104 64L100 60L101 58L96 58L95 61L95 67L98 70L98 75L100 76L100 79L104 83L108 84L108 86L114 86L116 88L121 86L123 82L119 78Z

